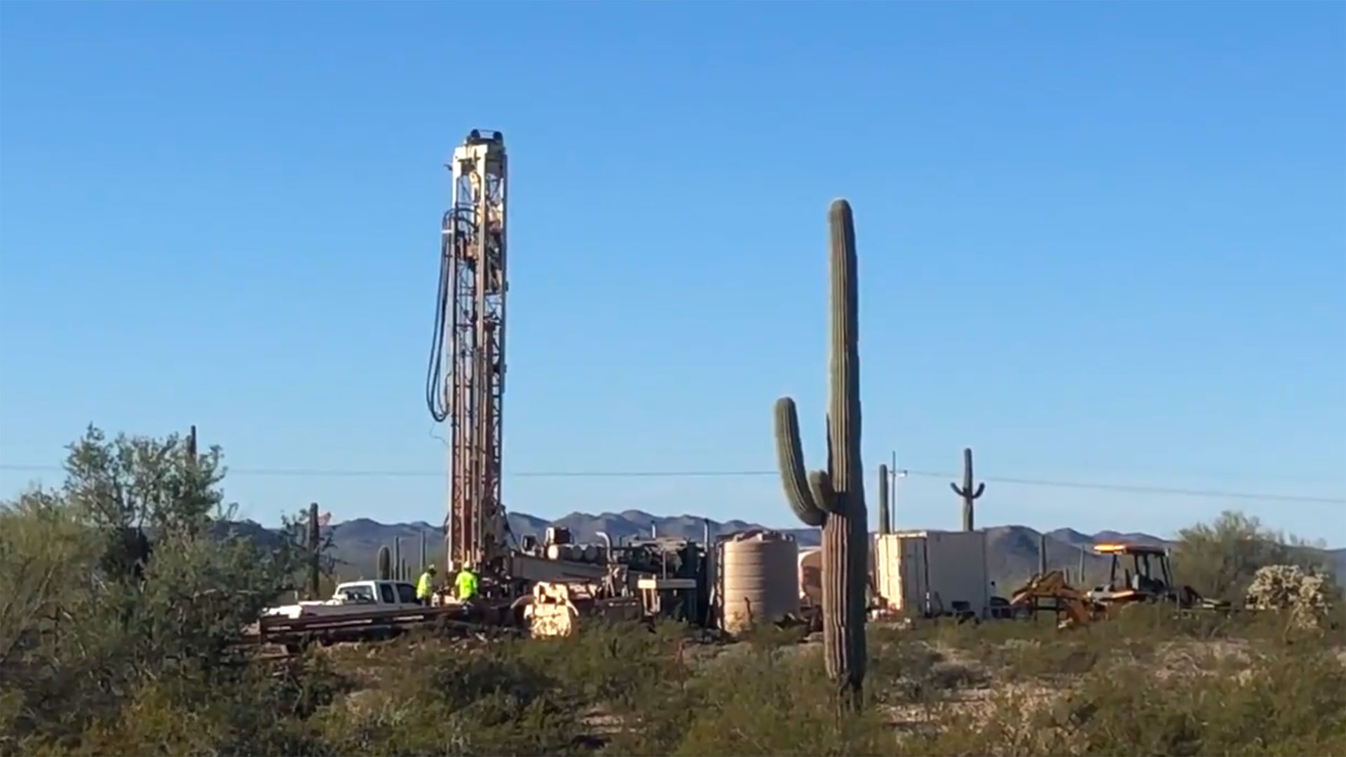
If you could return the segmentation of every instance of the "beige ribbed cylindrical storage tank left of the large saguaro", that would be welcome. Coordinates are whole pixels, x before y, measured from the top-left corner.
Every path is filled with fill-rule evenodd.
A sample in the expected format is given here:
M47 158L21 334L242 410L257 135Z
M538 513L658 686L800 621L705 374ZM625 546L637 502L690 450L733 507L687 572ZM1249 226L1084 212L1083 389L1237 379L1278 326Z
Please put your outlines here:
M800 614L800 546L774 531L748 531L724 541L720 555L724 630Z

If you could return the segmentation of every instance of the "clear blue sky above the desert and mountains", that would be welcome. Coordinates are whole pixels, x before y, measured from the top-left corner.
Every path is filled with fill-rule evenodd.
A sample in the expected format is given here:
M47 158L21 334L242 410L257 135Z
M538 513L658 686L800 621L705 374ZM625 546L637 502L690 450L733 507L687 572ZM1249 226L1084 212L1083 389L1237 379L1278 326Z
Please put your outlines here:
M791 523L770 475L516 474L769 470L781 393L818 465L844 195L871 471L972 446L984 524L1342 544L1341 502L996 480L1346 497L1343 39L1334 3L4 3L0 463L195 423L252 517L439 520L443 163L486 128L511 509ZM899 523L954 527L949 480Z

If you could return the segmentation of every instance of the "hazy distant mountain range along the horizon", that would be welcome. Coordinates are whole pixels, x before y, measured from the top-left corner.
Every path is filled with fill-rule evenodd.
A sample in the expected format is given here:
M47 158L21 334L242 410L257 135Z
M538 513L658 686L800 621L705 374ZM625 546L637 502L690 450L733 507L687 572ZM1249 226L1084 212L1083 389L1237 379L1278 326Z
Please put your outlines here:
M656 516L642 511L623 511L619 513L588 515L573 512L556 520L546 520L526 513L509 513L509 527L516 539L533 535L541 536L549 525L571 529L571 535L580 543L598 543L598 533L607 533L614 543L631 537L674 536L682 539L704 539L707 531L711 537L743 531L748 528L765 528L759 524L743 520L715 521L690 515ZM273 537L254 523L238 524L242 532L258 540ZM427 543L427 558L439 562L443 555L441 527L424 521L384 524L371 519L359 517L334 524L327 529L332 537L332 552L338 562L341 578L371 577L376 572L378 548L388 546L393 548L394 540L400 540L400 552L408 564L409 571L416 571L420 562L420 544L424 537ZM781 533L793 535L801 547L814 547L820 543L817 528L775 528ZM992 581L999 585L1022 582L1038 570L1038 550L1042 532L1027 525L992 525L987 532L987 560ZM1094 554L1090 548L1096 544L1109 541L1128 541L1141 544L1168 544L1170 541L1151 533L1116 531L1100 531L1097 533L1084 533L1073 528L1057 528L1046 532L1047 566L1050 568L1066 568L1069 575L1077 575L1081 555L1084 556L1085 578L1098 582L1106 577L1110 558ZM1327 551L1337 575L1346 575L1346 548ZM1180 575L1179 575L1180 579Z

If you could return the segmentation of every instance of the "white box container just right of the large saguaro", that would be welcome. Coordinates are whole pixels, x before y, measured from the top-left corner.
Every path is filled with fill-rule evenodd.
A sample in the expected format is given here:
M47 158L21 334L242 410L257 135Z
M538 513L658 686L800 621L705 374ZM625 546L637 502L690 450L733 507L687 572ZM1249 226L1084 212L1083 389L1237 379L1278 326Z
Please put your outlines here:
M985 531L899 531L875 539L875 583L887 610L907 617L987 618Z

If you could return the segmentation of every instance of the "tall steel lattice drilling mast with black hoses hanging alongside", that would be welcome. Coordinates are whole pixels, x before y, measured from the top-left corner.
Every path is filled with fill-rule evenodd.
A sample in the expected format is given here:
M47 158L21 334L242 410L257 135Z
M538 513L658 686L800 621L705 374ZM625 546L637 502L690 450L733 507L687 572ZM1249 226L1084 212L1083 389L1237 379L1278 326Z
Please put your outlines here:
M440 237L439 303L425 399L431 416L450 424L448 570L464 564L491 570L503 555L506 535L501 502L509 290L503 135L472 129L454 151L448 168L454 198Z

